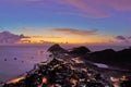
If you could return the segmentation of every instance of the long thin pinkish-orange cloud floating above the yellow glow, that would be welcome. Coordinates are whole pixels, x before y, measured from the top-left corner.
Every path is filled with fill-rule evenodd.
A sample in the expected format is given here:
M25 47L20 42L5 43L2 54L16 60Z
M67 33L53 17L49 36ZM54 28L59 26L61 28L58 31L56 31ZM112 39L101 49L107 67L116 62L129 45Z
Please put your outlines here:
M74 28L52 28L52 32L70 34L70 35L79 35L79 36L88 36L88 35L96 35L97 29L93 30L80 30Z

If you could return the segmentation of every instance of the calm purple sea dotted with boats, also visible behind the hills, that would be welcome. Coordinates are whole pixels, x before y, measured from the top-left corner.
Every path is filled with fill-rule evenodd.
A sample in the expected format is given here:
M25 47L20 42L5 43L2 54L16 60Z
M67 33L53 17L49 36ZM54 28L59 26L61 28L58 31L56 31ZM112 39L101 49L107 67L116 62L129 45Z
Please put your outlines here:
M15 78L34 67L34 64L48 60L50 46L0 46L0 82ZM62 46L66 49L78 46ZM86 46L92 51L127 47Z

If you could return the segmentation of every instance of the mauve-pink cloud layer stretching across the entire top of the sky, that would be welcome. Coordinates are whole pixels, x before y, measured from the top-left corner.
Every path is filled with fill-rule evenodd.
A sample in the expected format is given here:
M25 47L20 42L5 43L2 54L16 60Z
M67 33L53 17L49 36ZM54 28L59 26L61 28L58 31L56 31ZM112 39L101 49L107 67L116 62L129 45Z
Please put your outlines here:
M117 12L131 11L131 0L0 0L28 7L51 8L59 13L84 17L108 17ZM41 7L43 5L43 7Z

